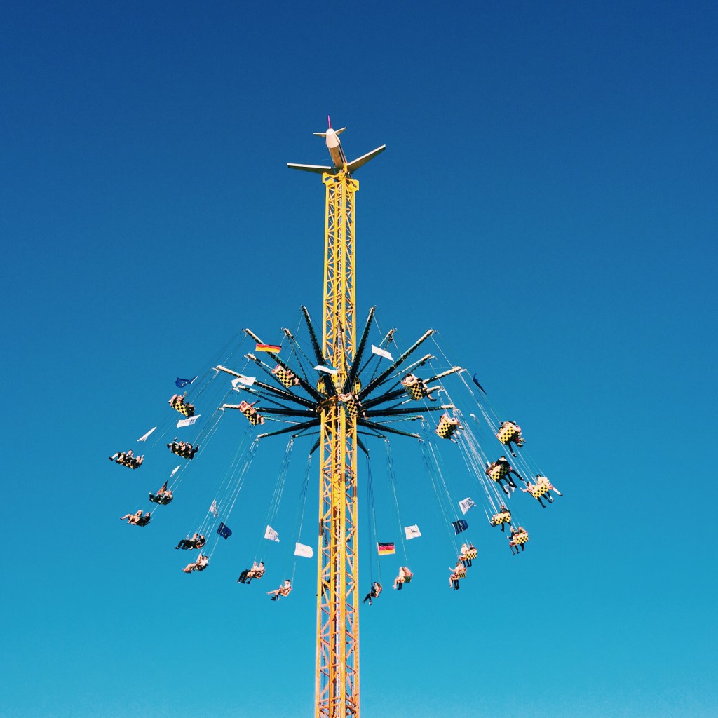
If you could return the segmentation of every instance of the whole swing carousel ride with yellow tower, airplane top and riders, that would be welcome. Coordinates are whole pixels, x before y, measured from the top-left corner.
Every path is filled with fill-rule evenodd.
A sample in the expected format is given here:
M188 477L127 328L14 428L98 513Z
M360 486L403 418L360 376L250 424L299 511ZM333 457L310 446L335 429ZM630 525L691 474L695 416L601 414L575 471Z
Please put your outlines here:
M220 424L226 423L228 417L240 415L241 421L246 422L245 430L238 442L233 439L233 458L215 485L210 509L174 547L197 551L197 558L182 571L191 574L210 566L220 538L226 539L232 533L228 526L230 516L243 486L251 481L251 465L259 445L266 443L264 439L281 435L288 435L289 442L269 502L264 536L259 539L260 548L251 568L245 569L237 580L247 584L264 577L261 546L279 541L279 531L284 531L277 523L279 505L294 444L305 442L307 463L295 520L295 530L297 524L299 530L294 534L296 569L297 556L314 555L312 546L299 541L312 457L318 455L319 517L314 534L318 536L315 718L354 718L360 714L360 495L369 514L372 553L375 546L375 557L397 552L396 539L388 540L396 533L378 534L370 447L380 442L386 453L386 483L396 507L393 531L398 528L403 554L393 581L397 590L414 578L406 558L406 542L421 536L421 531L415 523L404 526L401 521L392 440L411 442L418 449L420 465L447 530L450 550L456 556L456 566L449 574L449 587L453 590L461 587L477 557L477 549L467 538L470 536L467 515L471 518L480 513L481 506L492 530L503 533L511 554L516 556L526 549L529 538L523 523L518 521L519 511L515 507L521 504L521 493L528 494L544 508L554 503L554 494L561 495L526 452L521 427L493 404L476 375L467 378L465 368L449 363L437 341L437 332L429 329L401 350L396 330L383 333L379 329L374 307L369 309L363 324L358 325L354 219L359 185L352 174L380 154L384 146L348 162L339 139L344 130L332 129L329 122L326 132L314 133L325 139L332 164L288 165L321 174L326 188L321 342L307 308L302 307L297 329L282 330L278 345L267 344L266 337L246 329L228 342L201 376L177 378L176 386L185 391L169 398L164 418L137 441L146 447L149 463L157 461L160 465L174 459L179 460L179 465L171 472L168 465L167 480L156 493L149 494L151 510L140 509L122 517L133 526L144 527L158 510L171 511L166 507L181 493L185 479L201 473L202 456L210 452ZM177 413L182 418L178 419ZM235 418L230 422L236 427ZM177 433L175 427L192 436L174 437L168 442L171 434ZM145 456L137 454L128 449L116 452L110 459L137 470L144 465ZM363 482L358 479L359 454L365 464ZM460 460L462 472L447 470L447 460ZM518 488L521 490L516 491ZM372 561L369 563L373 565ZM286 598L292 592L294 569L292 578L284 579L278 588L269 591L271 600ZM437 580L445 580L440 575L437 571ZM374 580L373 572L370 574L370 590L363 598L369 605L383 590L381 572L376 577Z

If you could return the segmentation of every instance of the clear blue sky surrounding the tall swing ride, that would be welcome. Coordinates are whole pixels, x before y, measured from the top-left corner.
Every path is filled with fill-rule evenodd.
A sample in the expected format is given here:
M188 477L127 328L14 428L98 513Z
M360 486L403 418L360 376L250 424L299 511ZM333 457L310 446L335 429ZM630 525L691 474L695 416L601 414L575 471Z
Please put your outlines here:
M276 605L292 538L266 549L264 583L234 583L286 442L261 444L236 534L190 577L172 546L240 417L144 529L118 516L171 460L106 457L236 332L279 341L300 304L320 317L324 188L285 164L325 162L327 114L348 155L387 144L356 174L360 314L376 304L403 347L437 329L564 493L513 499L531 529L517 559L476 521L479 559L450 592L428 480L392 442L401 518L424 535L414 584L360 612L363 715L718 712L714 4L1 12L0 717L312 714L314 561Z

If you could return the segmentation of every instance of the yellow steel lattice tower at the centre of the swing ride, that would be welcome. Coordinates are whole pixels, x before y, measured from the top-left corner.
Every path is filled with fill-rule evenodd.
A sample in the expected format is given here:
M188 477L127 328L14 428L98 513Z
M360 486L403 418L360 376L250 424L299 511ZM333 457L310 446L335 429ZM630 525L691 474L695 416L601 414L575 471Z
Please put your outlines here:
M354 196L348 172L324 173L325 223L322 351L337 370L336 391L321 404L320 538L317 576L316 718L359 715L359 564L357 419L338 398L354 358ZM333 396L330 396L333 395Z

